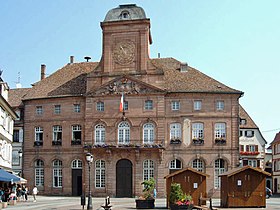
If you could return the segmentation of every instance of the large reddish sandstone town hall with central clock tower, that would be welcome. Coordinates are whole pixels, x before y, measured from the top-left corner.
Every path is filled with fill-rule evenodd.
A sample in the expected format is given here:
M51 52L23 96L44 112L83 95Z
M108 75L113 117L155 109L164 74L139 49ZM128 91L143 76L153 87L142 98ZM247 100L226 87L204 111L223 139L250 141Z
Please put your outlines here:
M207 192L219 196L218 176L239 163L243 93L173 58L150 59L150 19L136 5L110 10L101 28L100 62L71 57L46 78L43 66L22 96L29 185L80 195L90 152L94 196L140 195L150 177L165 196L164 177L187 167L208 174Z

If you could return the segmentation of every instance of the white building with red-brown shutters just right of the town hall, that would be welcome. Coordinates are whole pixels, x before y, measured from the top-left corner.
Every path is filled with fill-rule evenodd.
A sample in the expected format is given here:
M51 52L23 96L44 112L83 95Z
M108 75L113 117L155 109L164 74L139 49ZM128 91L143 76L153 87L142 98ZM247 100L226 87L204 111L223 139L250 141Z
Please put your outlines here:
M242 106L239 107L240 117L240 158L241 166L265 168L265 144L258 126L254 123Z

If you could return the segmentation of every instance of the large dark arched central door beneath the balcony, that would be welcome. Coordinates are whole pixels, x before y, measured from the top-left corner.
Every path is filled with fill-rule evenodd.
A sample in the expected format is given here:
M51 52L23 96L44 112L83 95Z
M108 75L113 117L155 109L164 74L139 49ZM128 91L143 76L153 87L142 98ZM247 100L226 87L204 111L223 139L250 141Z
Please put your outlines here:
M116 197L132 197L132 163L122 159L116 165Z

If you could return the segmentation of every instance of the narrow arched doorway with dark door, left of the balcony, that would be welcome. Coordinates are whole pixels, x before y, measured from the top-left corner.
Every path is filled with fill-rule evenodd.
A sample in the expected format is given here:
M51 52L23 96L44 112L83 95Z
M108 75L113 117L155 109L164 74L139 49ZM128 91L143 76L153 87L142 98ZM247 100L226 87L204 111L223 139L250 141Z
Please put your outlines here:
M83 162L81 160L72 161L72 195L80 196L83 193Z

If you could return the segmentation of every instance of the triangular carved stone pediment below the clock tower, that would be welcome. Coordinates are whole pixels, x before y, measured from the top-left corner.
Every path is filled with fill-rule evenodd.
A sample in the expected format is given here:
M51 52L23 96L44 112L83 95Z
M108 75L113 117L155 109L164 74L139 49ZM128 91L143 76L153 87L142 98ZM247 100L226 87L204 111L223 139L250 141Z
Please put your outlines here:
M163 90L142 81L122 77L104 84L97 90L90 91L88 95L117 95L122 93L135 95L163 92Z

